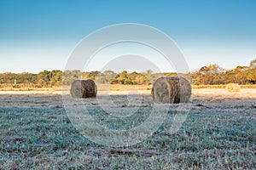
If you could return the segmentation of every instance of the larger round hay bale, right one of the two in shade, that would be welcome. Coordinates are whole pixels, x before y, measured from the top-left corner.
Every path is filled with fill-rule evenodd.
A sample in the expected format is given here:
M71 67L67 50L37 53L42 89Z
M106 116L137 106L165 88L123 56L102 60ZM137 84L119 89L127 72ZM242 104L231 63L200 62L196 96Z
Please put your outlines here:
M189 103L191 85L183 77L160 77L154 82L151 94L154 103Z

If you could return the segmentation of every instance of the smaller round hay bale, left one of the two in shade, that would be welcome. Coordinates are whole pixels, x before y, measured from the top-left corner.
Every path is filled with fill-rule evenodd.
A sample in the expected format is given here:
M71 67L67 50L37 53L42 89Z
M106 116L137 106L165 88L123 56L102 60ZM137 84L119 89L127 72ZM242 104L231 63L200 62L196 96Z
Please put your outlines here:
M71 84L70 94L73 98L96 97L96 83L92 80L75 80Z

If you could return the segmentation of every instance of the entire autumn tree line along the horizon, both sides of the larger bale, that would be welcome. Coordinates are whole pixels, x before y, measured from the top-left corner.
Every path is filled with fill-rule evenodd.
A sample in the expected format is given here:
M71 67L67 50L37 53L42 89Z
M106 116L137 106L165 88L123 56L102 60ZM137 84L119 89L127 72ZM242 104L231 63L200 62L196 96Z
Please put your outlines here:
M122 71L115 73L114 71L41 71L38 74L33 73L11 73L5 72L0 74L0 84L29 84L41 87L61 86L62 84L70 84L77 79L92 79L97 83L108 84L138 84L148 85L154 82L158 77L177 76L175 72L154 73ZM256 59L250 62L248 66L237 66L233 70L225 70L218 65L203 66L197 71L183 74L183 77L189 77L194 85L219 85L230 82L239 84L255 84L256 83Z

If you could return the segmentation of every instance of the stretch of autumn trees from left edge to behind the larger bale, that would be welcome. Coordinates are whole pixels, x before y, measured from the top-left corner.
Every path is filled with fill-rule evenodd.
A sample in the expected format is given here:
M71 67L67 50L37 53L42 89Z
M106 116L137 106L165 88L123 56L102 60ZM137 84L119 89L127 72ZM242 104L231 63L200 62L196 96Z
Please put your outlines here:
M11 73L5 72L0 74L0 84L27 84L35 85L37 88L61 86L62 84L71 84L74 80L78 79L92 79L97 83L107 84L138 84L148 85L154 82L156 78L161 76L176 76L176 73L153 73L153 71L146 72L131 72L122 71L115 73L114 71L90 71L82 72L79 70L74 71L41 71L38 74L33 73Z

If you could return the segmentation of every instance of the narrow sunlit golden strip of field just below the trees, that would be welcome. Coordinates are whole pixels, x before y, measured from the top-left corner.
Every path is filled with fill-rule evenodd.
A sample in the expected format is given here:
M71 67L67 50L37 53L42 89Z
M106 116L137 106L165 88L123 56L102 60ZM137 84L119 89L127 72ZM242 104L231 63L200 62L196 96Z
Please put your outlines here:
M110 91L126 91L126 90L151 90L152 85L124 85L124 84L97 84L98 91L110 90ZM193 89L197 88L225 88L226 85L193 85ZM254 85L241 85L241 88L256 88ZM24 85L19 86L13 84L0 84L0 91L61 91L62 87L49 87L49 88L38 88L35 85Z

